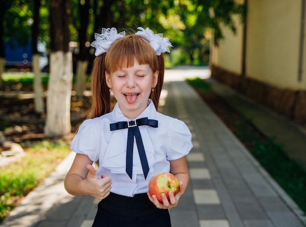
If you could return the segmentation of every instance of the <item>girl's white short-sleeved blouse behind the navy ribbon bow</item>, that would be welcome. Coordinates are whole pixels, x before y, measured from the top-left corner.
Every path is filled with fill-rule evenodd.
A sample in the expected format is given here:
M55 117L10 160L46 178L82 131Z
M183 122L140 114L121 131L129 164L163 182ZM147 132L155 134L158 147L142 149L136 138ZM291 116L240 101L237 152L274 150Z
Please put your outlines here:
M109 124L128 121L118 103L114 109L101 117L84 121L73 138L70 148L85 154L93 162L99 161L97 175L111 177L111 192L132 197L148 192L151 177L159 172L169 172L171 160L184 157L192 148L191 132L182 121L156 111L152 100L136 118L158 121L158 127L139 126L149 164L149 174L144 178L137 145L134 139L132 179L126 173L126 150L128 129L110 131Z

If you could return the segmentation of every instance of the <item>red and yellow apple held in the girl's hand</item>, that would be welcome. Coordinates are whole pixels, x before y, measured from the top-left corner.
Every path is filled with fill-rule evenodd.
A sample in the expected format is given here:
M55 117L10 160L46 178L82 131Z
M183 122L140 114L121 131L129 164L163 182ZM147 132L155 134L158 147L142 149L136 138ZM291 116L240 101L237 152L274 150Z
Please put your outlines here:
M155 174L149 181L149 192L156 195L159 202L162 202L161 193L165 193L169 200L168 192L172 191L174 195L178 192L178 180L172 173L161 172Z

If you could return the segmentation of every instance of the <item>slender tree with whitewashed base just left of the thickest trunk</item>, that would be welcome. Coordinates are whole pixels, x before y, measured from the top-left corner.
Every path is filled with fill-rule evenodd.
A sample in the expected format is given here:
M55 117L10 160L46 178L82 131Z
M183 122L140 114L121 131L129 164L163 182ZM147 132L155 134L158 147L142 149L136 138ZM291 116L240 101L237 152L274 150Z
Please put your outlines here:
M34 22L32 24L32 66L34 72L33 90L35 94L34 107L36 113L44 112L43 100L43 84L41 77L41 70L39 67L39 53L37 50L39 23L40 23L40 10L41 0L34 0Z

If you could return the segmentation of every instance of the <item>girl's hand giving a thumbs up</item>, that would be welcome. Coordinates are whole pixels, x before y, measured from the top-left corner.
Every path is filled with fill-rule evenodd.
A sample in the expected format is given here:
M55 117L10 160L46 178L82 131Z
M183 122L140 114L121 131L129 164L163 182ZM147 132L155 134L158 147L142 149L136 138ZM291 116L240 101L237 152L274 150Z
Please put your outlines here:
M92 165L86 165L88 169L86 183L87 195L91 195L99 200L103 200L110 193L111 178L109 176L101 176L101 179L96 174L96 171Z

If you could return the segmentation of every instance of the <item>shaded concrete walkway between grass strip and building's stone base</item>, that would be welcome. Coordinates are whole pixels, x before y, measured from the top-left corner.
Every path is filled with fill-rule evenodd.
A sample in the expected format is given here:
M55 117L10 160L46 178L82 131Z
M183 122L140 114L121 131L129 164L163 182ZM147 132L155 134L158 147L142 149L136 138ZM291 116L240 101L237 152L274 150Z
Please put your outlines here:
M306 130L289 121L286 117L273 112L268 107L241 96L228 86L208 79L213 90L222 99L249 119L268 138L282 145L288 156L306 169Z

